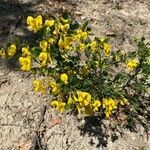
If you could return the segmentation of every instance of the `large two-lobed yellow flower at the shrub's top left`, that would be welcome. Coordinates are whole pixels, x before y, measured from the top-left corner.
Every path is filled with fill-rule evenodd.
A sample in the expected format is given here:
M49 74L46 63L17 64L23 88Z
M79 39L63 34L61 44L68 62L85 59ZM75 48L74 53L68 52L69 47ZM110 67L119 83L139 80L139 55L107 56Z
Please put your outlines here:
M38 30L42 28L42 16L39 15L36 18L32 16L27 17L28 30L36 33Z

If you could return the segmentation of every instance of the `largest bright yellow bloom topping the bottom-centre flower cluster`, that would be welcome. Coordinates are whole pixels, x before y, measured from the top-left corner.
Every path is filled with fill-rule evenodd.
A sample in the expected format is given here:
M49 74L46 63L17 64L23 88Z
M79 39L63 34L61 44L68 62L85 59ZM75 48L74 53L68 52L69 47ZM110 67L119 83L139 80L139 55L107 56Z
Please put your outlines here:
M79 103L87 106L91 102L91 95L87 92L77 91L78 98L76 99Z

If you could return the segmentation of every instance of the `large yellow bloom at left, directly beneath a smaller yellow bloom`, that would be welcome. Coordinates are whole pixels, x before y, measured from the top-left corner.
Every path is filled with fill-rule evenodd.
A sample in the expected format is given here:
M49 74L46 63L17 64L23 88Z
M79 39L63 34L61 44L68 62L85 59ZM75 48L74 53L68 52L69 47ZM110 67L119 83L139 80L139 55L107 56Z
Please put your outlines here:
M23 71L31 70L31 57L20 57L19 63L21 64L21 70Z

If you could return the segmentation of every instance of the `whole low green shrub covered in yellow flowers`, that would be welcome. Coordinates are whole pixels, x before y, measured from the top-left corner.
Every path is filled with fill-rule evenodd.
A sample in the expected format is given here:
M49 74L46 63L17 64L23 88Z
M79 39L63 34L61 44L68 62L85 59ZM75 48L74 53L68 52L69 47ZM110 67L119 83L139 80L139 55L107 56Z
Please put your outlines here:
M148 93L150 45L143 38L136 51L114 51L107 37L92 38L87 21L80 25L65 14L28 16L27 28L38 40L32 46L9 43L0 56L19 52L21 70L42 76L34 80L34 91L52 95L50 104L60 112L109 118L120 108L135 108Z

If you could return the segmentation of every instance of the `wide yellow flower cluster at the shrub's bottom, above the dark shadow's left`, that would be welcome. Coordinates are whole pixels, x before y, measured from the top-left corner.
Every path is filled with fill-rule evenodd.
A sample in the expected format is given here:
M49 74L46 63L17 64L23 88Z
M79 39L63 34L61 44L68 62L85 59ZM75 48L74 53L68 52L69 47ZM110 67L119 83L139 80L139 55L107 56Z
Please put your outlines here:
M61 112L64 111L66 107L73 107L77 109L78 113L85 115L92 115L94 112L97 112L101 106L99 100L93 100L92 96L88 92L77 91L75 94L69 94L67 102L62 101L63 98L59 98L51 102L51 106L55 107L57 110L61 109ZM62 108L62 106L64 106Z

